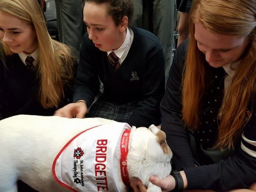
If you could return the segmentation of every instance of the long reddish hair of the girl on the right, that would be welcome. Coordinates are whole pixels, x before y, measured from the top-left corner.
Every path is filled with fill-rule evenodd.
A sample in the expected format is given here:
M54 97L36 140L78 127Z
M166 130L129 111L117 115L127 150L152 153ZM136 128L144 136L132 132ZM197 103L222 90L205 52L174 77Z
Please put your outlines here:
M194 38L196 22L212 32L247 36L249 45L228 88L220 108L218 140L215 147L234 148L246 119L249 102L256 92L256 2L255 0L194 0L190 12L190 40L183 73L182 115L185 124L196 130L200 105L209 82L209 66ZM252 109L249 109L252 112Z

